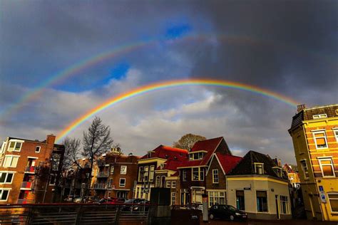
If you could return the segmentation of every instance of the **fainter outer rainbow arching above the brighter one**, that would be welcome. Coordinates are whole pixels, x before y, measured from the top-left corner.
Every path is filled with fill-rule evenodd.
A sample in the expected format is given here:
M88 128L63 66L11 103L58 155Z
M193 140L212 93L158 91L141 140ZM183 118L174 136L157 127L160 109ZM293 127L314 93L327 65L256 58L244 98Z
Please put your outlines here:
M26 92L24 95L19 98L19 100L16 100L14 103L9 105L8 108L2 110L0 112L0 118L4 119L6 116L11 115L13 112L19 110L22 106L26 105L26 103L29 103L33 100L36 100L39 98L43 91L46 90L47 87L50 87L52 85L55 85L56 83L60 83L62 80L65 80L66 78L71 77L72 75L79 74L81 71L85 70L86 68L90 68L92 66L97 65L98 63L101 63L108 58L113 58L116 56L120 56L123 53L128 53L130 51L135 51L138 48L143 48L144 46L152 46L156 43L179 43L182 41L208 41L217 39L218 41L227 41L228 43L245 43L247 45L255 46L255 45L271 45L271 46L280 46L280 48L287 48L292 47L294 49L294 46L285 46L285 44L282 43L274 43L271 41L262 41L258 40L256 38L252 38L250 36L231 36L227 34L198 34L198 33L192 33L188 36L183 36L181 38L175 38L175 39L148 39L145 41L136 41L131 43L126 43L121 46L117 46L116 48L113 48L109 51L104 51L102 53L98 53L96 56L91 56L89 58L84 59L83 61L79 61L78 63L73 64L72 66L59 71L58 73L54 73L53 75L50 75L48 79L44 80L42 83L37 85L35 88L32 88L28 92Z

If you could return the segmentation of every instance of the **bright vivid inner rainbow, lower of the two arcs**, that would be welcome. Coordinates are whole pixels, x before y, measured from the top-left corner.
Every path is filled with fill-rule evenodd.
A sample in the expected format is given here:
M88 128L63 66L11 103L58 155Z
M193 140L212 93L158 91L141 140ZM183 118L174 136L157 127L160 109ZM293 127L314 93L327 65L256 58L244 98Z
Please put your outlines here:
M272 92L271 90L266 90L263 88L256 87L254 85L247 85L244 83L237 83L237 82L232 82L232 81L227 81L227 80L209 80L209 79L170 80L170 81L164 81L164 82L159 82L159 83L151 83L149 85L144 85L142 87L135 88L126 93L122 93L118 96L114 96L113 98L107 100L106 102L89 110L84 115L81 115L81 117L78 117L76 120L73 120L73 122L71 122L70 125L67 125L66 128L62 130L60 134L58 134L56 141L63 139L63 137L65 137L70 132L75 130L76 127L81 125L81 123L88 120L90 117L92 117L96 113L101 112L105 110L106 108L111 107L112 105L116 105L117 103L120 103L123 100L128 100L129 98L133 98L138 95L143 95L145 93L149 93L150 91L154 91L154 90L161 90L165 88L173 88L173 87L179 87L179 86L185 86L185 85L205 85L205 86L217 86L217 87L223 87L223 88L235 88L238 90L247 90L247 91L250 91L251 93L257 93L260 95L273 98L275 100L280 100L281 102L286 103L287 105L290 105L292 107L299 105L297 101L293 100L292 98L288 98L285 95L281 95L279 93Z

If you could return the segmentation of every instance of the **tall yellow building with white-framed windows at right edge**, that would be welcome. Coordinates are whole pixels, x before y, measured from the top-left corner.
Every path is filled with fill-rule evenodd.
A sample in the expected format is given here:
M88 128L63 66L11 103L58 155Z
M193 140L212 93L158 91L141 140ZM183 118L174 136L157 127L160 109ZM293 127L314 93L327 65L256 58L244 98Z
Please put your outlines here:
M338 105L299 105L289 133L308 219L338 221Z

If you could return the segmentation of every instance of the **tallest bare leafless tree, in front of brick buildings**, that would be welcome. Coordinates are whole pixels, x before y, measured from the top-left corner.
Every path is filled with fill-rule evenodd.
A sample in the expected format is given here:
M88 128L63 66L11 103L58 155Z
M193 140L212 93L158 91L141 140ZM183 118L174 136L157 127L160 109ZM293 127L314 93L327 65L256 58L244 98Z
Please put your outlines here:
M89 159L90 173L88 177L88 184L86 187L86 194L88 195L88 187L91 185L91 174L93 164L103 153L111 150L113 139L111 138L111 128L103 125L100 117L95 117L88 131L83 132L83 151L81 155Z

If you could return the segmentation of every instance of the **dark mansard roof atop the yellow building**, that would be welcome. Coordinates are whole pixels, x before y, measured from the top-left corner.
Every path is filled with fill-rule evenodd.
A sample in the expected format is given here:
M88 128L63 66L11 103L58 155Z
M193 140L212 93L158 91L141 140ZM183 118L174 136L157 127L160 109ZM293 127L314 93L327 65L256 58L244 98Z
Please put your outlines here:
M302 125L303 120L316 120L312 116L326 114L327 117L338 117L338 104L336 105L324 105L312 108L304 108L292 117L292 123L289 132L294 130L299 125Z

